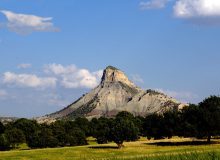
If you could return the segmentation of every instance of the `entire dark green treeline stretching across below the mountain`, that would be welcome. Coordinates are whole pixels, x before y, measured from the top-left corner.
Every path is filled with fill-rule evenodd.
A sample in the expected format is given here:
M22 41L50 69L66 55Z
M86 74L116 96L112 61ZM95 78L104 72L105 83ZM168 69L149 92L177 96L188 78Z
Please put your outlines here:
M220 136L220 97L211 96L198 105L190 104L180 111L134 117L120 112L114 119L77 118L75 121L56 121L50 125L19 119L13 123L0 123L0 150L16 148L27 143L30 148L80 146L87 144L87 137L97 143L115 142L119 148L124 141L179 137L206 138Z

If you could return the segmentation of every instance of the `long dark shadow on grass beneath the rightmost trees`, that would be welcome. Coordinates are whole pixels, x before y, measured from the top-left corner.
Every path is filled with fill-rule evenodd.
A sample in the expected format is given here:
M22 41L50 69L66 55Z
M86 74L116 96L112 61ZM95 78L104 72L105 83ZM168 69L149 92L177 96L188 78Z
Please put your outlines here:
M145 143L147 145L157 145L157 146L199 146L199 145L210 145L219 144L219 142L208 143L206 141L186 141L186 142L155 142L155 143Z

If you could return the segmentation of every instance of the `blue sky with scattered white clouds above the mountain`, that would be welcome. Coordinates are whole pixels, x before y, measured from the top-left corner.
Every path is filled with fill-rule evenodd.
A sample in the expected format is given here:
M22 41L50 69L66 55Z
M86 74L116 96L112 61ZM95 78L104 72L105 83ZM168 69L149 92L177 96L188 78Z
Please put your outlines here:
M0 0L0 116L57 111L108 65L198 103L220 91L217 0Z

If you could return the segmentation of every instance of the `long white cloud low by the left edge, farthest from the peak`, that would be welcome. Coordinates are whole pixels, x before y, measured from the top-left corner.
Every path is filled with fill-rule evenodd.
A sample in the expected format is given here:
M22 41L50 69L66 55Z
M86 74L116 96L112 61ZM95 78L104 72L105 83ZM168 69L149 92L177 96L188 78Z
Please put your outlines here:
M57 79L53 77L42 78L34 74L15 74L12 72L5 72L3 75L3 83L20 87L47 88L55 87Z

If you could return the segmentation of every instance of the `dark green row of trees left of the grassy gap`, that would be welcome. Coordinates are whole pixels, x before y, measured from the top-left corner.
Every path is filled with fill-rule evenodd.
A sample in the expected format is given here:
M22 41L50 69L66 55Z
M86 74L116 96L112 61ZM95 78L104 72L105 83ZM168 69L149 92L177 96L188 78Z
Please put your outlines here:
M86 145L83 129L73 121L57 121L47 125L19 119L5 126L0 123L0 149L16 148L21 143L27 143L30 148Z

